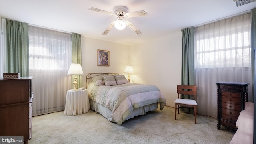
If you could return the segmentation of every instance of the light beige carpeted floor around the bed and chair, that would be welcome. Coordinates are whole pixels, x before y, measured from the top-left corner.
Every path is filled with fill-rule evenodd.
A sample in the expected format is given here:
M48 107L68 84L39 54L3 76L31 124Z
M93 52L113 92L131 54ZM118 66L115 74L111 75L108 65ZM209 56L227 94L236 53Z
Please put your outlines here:
M29 144L229 144L234 132L217 130L217 120L160 108L118 125L89 110L66 116L64 111L33 117Z

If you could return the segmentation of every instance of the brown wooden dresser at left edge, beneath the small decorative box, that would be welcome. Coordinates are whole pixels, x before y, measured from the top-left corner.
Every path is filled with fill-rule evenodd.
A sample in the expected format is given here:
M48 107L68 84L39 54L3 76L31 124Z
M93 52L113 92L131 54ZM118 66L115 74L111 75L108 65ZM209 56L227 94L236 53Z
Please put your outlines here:
M32 79L0 79L0 136L23 136L25 144L32 134Z

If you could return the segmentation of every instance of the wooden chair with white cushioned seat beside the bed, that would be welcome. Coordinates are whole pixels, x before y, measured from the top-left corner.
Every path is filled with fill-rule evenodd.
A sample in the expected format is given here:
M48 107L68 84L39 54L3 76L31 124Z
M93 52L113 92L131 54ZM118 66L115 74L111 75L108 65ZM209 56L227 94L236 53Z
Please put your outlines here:
M193 107L194 108L194 116L195 116L195 124L196 124L196 86L195 85L177 85L177 93L178 93L178 99L174 101L175 103L175 120L176 120L176 113L178 109L178 113L180 113L179 108L184 107ZM193 95L194 99L182 99L180 98L180 94L184 95ZM178 107L177 107L178 105ZM181 107L184 106L184 107Z

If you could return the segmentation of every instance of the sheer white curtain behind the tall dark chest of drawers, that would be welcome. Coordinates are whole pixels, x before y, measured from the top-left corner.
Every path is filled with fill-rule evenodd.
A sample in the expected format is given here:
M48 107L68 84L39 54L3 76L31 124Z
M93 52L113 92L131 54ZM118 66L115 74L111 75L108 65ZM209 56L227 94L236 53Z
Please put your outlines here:
M252 83L251 13L195 28L198 113L217 117L218 81ZM252 85L248 87L252 101Z

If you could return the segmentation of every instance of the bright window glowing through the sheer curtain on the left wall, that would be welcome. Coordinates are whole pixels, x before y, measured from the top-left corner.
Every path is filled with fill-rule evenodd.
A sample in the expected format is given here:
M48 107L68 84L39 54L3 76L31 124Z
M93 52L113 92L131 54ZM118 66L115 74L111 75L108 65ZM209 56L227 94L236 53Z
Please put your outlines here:
M67 70L71 55L71 35L30 26L29 69ZM68 65L67 65L68 64Z

